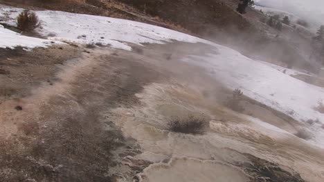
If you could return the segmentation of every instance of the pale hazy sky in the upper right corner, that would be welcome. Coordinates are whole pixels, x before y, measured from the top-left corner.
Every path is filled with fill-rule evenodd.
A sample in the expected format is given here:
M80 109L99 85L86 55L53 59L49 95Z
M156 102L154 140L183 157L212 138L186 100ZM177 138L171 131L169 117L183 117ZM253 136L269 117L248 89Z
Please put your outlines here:
M256 0L259 5L294 13L324 25L324 0Z

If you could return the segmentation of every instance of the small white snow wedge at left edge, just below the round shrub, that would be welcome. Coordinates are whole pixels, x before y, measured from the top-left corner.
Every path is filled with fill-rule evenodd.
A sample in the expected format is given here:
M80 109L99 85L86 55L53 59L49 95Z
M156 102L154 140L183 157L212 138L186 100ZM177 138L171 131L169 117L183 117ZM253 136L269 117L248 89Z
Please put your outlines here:
M17 46L24 48L46 47L51 45L51 41L26 37L16 32L12 32L0 25L0 48L13 49Z

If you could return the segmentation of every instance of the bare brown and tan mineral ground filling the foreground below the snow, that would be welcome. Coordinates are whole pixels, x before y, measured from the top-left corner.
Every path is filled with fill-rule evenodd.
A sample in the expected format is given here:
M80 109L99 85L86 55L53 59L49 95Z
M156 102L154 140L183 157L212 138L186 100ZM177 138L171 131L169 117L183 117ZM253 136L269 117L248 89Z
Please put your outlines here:
M323 150L228 110L232 90L178 61L209 45L132 46L0 50L0 181L323 181ZM205 134L168 130L189 114Z

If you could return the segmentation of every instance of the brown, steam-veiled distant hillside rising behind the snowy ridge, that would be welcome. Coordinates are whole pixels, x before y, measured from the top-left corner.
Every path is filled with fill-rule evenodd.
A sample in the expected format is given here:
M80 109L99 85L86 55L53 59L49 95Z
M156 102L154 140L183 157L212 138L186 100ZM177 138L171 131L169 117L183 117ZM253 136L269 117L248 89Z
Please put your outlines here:
M247 8L236 12L238 0L0 0L8 5L31 6L95 14L150 23L228 45L242 54L282 66L316 72L308 61L311 37L283 26L282 32L260 21L266 14ZM289 65L290 64L290 65Z

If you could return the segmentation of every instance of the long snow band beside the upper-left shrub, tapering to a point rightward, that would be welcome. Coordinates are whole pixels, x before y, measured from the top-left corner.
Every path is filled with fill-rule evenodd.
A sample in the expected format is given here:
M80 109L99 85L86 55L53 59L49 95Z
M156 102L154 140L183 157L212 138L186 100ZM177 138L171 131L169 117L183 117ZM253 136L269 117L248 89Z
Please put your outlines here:
M10 19L7 22L10 24L15 24L14 18L22 10L10 9L6 6L1 9L0 14L5 12L9 14ZM61 41L102 43L124 50L132 50L127 43L141 45L141 43L164 43L171 40L207 42L188 34L136 21L57 11L37 11L36 14L42 23L39 33L44 36L55 34L51 39Z

